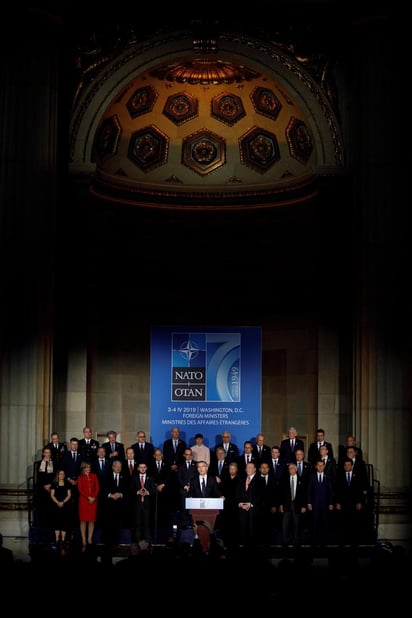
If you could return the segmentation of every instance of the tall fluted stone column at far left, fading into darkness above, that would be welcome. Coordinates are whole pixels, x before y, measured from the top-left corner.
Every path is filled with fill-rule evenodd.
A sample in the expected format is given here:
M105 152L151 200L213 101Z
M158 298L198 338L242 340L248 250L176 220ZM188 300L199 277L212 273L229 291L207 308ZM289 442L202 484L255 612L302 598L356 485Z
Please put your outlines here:
M0 43L0 488L19 491L52 412L58 52L43 25L23 12Z

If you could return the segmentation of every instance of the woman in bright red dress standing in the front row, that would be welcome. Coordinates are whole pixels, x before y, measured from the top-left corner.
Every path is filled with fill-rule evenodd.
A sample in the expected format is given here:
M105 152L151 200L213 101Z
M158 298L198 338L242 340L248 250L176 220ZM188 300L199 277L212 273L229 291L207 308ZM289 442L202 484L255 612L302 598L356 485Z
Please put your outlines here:
M91 464L82 461L80 465L80 476L77 479L77 489L79 491L79 520L80 535L82 537L82 551L86 549L87 543L93 543L94 524L97 517L97 496L99 495L99 479L97 474L92 472Z

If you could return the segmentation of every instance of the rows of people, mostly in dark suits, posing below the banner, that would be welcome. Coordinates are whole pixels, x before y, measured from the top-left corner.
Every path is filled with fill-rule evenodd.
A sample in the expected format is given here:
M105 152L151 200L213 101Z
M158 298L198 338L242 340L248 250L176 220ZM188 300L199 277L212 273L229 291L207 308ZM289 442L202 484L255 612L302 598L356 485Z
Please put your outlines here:
M209 450L209 461L195 459L196 449L181 438L178 427L171 429L162 448L147 441L144 431L127 448L116 438L116 432L109 431L107 441L99 444L85 427L82 439L72 438L67 447L53 433L43 448L36 474L42 498L37 501L39 519L40 525L54 527L56 541L64 540L78 522L83 546L93 543L96 522L108 547L123 528L131 530L136 542L151 540L172 522L180 528L190 525L187 497L223 498L216 528L228 547L299 545L308 530L310 542L325 543L332 521L344 542L359 541L369 489L366 464L359 451L354 452L356 445L347 447L349 452L345 449L336 462L323 429L316 431L307 459L294 427L280 445L265 444L259 433L254 441L244 442L242 452L224 431L221 442ZM200 457L204 450L198 452ZM63 486L70 495L63 500L72 505L71 521L45 508L47 501L49 506L56 502L51 500L56 491L64 495ZM332 518L332 513L337 515Z

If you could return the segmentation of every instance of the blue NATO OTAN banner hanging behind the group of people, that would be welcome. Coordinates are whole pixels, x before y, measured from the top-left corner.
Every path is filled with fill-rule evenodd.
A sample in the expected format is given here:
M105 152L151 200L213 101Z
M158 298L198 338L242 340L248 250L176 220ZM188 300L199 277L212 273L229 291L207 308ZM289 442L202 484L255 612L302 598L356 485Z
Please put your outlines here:
M156 447L172 427L213 449L223 431L243 452L261 424L261 328L153 326L150 433Z

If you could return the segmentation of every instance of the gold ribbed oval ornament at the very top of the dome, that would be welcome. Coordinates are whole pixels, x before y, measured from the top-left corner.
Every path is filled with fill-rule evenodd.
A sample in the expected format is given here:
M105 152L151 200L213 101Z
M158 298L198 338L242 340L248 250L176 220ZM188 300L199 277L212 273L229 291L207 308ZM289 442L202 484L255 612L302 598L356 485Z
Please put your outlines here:
M161 66L150 72L152 77L180 84L233 84L250 82L260 73L242 64L223 60L196 59L179 64Z

